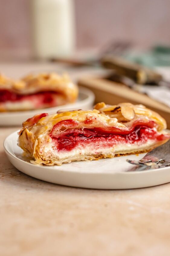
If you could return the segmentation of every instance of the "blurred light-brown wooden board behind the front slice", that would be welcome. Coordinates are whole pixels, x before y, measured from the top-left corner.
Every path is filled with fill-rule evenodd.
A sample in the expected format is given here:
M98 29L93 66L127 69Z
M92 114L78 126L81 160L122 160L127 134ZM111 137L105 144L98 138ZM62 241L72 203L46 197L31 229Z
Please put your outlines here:
M143 104L164 117L170 129L170 108L161 102L149 98L145 94L138 93L126 85L99 77L84 77L79 79L78 84L91 89L95 93L96 103L104 101L110 105L116 105L120 102Z

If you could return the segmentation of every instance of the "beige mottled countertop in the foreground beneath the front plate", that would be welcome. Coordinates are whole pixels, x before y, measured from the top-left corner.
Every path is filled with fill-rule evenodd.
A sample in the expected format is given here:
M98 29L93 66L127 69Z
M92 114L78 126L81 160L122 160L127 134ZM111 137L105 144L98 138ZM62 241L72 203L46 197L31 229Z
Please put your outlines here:
M0 255L169 255L170 184L90 190L31 178L8 161L0 128Z

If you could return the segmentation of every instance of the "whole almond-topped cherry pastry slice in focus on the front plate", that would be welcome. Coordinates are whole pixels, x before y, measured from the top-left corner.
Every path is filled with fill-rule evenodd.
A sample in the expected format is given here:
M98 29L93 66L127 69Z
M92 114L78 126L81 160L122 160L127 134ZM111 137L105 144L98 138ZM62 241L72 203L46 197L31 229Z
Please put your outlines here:
M34 163L61 165L149 151L170 138L165 128L165 120L143 105L98 103L94 110L29 118L18 145Z

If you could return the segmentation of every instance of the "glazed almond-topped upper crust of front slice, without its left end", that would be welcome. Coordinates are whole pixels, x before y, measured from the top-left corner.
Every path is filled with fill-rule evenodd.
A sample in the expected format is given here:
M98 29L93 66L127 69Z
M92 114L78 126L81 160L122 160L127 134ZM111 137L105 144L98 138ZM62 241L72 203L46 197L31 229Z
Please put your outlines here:
M93 110L62 110L58 111L56 114L43 117L39 116L40 118L37 116L38 115L23 122L23 129L27 128L36 136L43 132L50 131L54 125L68 119L77 121L76 128L114 126L126 130L129 129L136 120L143 122L154 121L158 131L166 128L166 121L159 114L145 108L143 105L133 105L131 103L121 103L111 106L101 102L96 104ZM38 121L35 122L35 120Z

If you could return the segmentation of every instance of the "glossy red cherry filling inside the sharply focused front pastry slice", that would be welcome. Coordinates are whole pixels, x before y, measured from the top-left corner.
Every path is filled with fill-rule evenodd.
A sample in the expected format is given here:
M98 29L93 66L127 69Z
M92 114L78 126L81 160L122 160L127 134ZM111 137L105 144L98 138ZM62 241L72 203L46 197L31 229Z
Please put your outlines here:
M69 129L68 126L69 126ZM59 122L53 127L50 136L55 140L58 150L70 151L77 145L87 145L94 143L94 146L102 145L102 147L110 147L118 143L135 142L145 143L148 139L163 141L169 138L169 135L159 135L154 129L155 122L134 122L129 130L121 130L115 127L103 127L87 129L76 129L77 122L73 120L65 120ZM60 130L61 128L61 130ZM102 143L102 144L101 144Z

